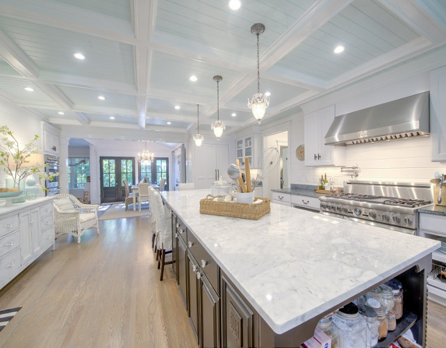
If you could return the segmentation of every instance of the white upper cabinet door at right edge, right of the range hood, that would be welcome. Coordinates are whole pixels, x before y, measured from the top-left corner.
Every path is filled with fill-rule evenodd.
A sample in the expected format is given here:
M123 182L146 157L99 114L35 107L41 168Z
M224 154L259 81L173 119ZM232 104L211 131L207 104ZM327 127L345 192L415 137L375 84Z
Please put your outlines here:
M432 160L446 160L446 67L431 71Z

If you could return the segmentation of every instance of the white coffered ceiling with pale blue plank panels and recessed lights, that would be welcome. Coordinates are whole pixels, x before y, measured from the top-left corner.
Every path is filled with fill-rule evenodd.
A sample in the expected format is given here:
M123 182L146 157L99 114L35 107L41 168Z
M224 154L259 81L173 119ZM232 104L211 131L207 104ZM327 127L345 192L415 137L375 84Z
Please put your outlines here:
M259 22L267 121L444 49L446 0L0 0L0 98L53 124L177 133L195 131L199 103L206 133L218 74L231 133L255 122Z

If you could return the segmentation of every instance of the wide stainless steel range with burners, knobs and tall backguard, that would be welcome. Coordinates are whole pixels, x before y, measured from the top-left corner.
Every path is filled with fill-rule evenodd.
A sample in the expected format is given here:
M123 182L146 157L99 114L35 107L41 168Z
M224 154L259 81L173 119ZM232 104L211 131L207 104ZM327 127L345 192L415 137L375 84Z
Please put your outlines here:
M428 204L428 183L347 181L344 193L320 197L320 213L418 234L415 211Z

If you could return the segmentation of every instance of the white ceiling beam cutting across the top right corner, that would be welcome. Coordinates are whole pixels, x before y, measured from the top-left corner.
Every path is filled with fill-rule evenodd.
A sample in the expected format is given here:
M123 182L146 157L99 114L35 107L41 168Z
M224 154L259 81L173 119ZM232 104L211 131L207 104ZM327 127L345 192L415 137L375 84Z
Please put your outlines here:
M404 22L415 28L433 43L446 41L446 28L436 21L424 7L415 0L379 0Z

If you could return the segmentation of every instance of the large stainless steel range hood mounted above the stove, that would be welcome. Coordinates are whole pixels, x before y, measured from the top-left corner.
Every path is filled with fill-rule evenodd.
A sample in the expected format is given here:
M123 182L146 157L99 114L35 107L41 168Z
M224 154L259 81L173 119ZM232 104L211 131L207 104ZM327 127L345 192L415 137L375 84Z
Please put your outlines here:
M324 143L352 145L429 135L429 92L335 117Z

